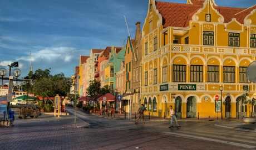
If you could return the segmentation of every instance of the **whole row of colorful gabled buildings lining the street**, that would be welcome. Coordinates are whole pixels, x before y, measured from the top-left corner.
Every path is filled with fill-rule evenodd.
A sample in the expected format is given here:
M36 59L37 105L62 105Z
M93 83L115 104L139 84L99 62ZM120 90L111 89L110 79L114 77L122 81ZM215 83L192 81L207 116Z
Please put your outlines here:
M215 98L222 100L223 117L246 116L249 106L240 95L256 92L247 79L247 66L256 58L256 5L220 7L214 0L186 4L149 1L142 30L123 47L91 49L80 56L75 79L81 96L90 80L110 85L122 95L124 110L131 100L135 112L178 117L217 117ZM220 91L219 87L223 87ZM221 94L222 92L222 94ZM250 109L254 116L256 108ZM219 113L220 117L220 113Z

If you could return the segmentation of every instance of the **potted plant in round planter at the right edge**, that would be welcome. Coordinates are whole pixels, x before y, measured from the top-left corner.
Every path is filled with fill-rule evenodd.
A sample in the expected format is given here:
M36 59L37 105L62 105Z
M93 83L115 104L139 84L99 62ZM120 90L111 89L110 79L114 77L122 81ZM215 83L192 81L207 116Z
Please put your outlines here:
M251 114L251 108L254 107L256 105L256 101L255 99L250 99L250 97L248 96L248 92L245 92L244 94L241 95L242 99L245 99L244 104L246 104L249 107L249 117L244 117L243 121L246 123L255 123L256 122L256 118L253 117Z

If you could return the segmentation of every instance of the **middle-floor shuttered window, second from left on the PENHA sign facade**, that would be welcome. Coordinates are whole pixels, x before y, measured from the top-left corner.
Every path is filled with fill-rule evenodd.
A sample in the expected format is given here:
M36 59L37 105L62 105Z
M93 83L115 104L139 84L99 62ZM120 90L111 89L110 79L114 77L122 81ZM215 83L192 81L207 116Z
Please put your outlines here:
M203 65L190 66L190 82L203 82Z

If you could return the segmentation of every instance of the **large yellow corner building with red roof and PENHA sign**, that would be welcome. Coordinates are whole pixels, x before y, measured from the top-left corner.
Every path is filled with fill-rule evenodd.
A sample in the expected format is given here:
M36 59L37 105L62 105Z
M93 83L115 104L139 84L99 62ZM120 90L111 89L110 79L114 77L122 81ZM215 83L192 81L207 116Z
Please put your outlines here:
M247 87L250 97L255 92L245 75L255 60L255 18L256 6L150 0L142 28L141 97L146 113L170 117L173 105L178 117L217 117L219 96L223 117L249 115L240 95Z

